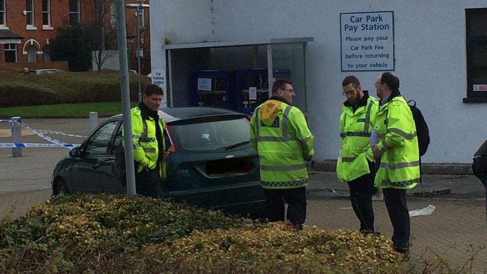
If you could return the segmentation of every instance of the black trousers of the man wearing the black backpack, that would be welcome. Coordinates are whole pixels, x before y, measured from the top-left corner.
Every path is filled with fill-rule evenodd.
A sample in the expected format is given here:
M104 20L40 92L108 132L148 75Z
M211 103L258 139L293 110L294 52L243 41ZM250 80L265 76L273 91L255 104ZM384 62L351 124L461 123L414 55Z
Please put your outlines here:
M406 190L384 188L384 201L386 203L389 218L391 219L394 234L392 235L393 247L399 252L409 250L409 235L411 223L409 219L408 205L406 204Z

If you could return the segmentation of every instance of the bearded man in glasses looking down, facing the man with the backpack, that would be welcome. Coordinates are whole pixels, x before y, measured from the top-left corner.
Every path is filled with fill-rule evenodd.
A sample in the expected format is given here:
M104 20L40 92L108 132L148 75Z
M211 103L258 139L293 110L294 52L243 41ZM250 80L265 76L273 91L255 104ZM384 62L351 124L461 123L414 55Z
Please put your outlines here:
M340 115L341 149L336 174L340 181L348 183L352 208L360 221L360 232L373 233L375 168L369 144L378 102L362 90L359 80L353 75L343 79L342 88L347 100Z

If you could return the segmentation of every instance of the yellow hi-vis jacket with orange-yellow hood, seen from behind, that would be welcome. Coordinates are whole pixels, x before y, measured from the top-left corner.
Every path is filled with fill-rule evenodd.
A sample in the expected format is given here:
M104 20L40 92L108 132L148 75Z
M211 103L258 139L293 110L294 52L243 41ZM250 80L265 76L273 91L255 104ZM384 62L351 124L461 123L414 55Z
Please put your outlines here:
M260 159L260 180L265 189L306 186L306 160L311 160L313 135L303 113L278 97L258 106L250 120L250 143Z

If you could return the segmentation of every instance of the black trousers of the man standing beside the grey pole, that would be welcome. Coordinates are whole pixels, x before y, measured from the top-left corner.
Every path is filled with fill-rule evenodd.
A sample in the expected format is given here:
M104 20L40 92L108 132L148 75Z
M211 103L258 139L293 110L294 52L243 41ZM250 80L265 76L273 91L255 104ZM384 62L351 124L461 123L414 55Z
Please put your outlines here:
M143 168L141 172L136 172L135 188L139 195L152 198L164 198L161 177L159 176L159 166L152 170Z

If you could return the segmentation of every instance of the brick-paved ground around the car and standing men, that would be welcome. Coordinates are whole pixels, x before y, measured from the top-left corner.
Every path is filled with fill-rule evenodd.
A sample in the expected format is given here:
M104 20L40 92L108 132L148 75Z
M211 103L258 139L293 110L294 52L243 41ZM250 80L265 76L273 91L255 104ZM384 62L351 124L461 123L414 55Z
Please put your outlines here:
M88 119L32 119L24 122L36 129L60 130L86 135ZM8 124L0 124L0 130ZM60 138L80 142L76 138ZM24 136L26 142L42 142ZM0 142L9 142L1 138ZM29 208L50 198L50 177L54 165L68 150L64 148L24 149L23 157L12 158L11 150L0 149L0 218L24 216ZM348 187L331 172L311 172L308 187L306 225L320 229L358 229L359 224L348 200ZM448 195L435 191L450 190ZM409 192L410 210L429 204L436 206L431 216L411 218L411 258L414 262L434 258L448 259L455 269L469 262L473 253L487 245L485 190L473 176L427 175L423 183ZM423 193L432 193L426 197ZM419 196L419 197L418 197ZM392 226L383 201L374 202L376 230L392 235ZM426 251L426 253L425 253ZM480 251L473 261L474 273L487 273L487 252Z

